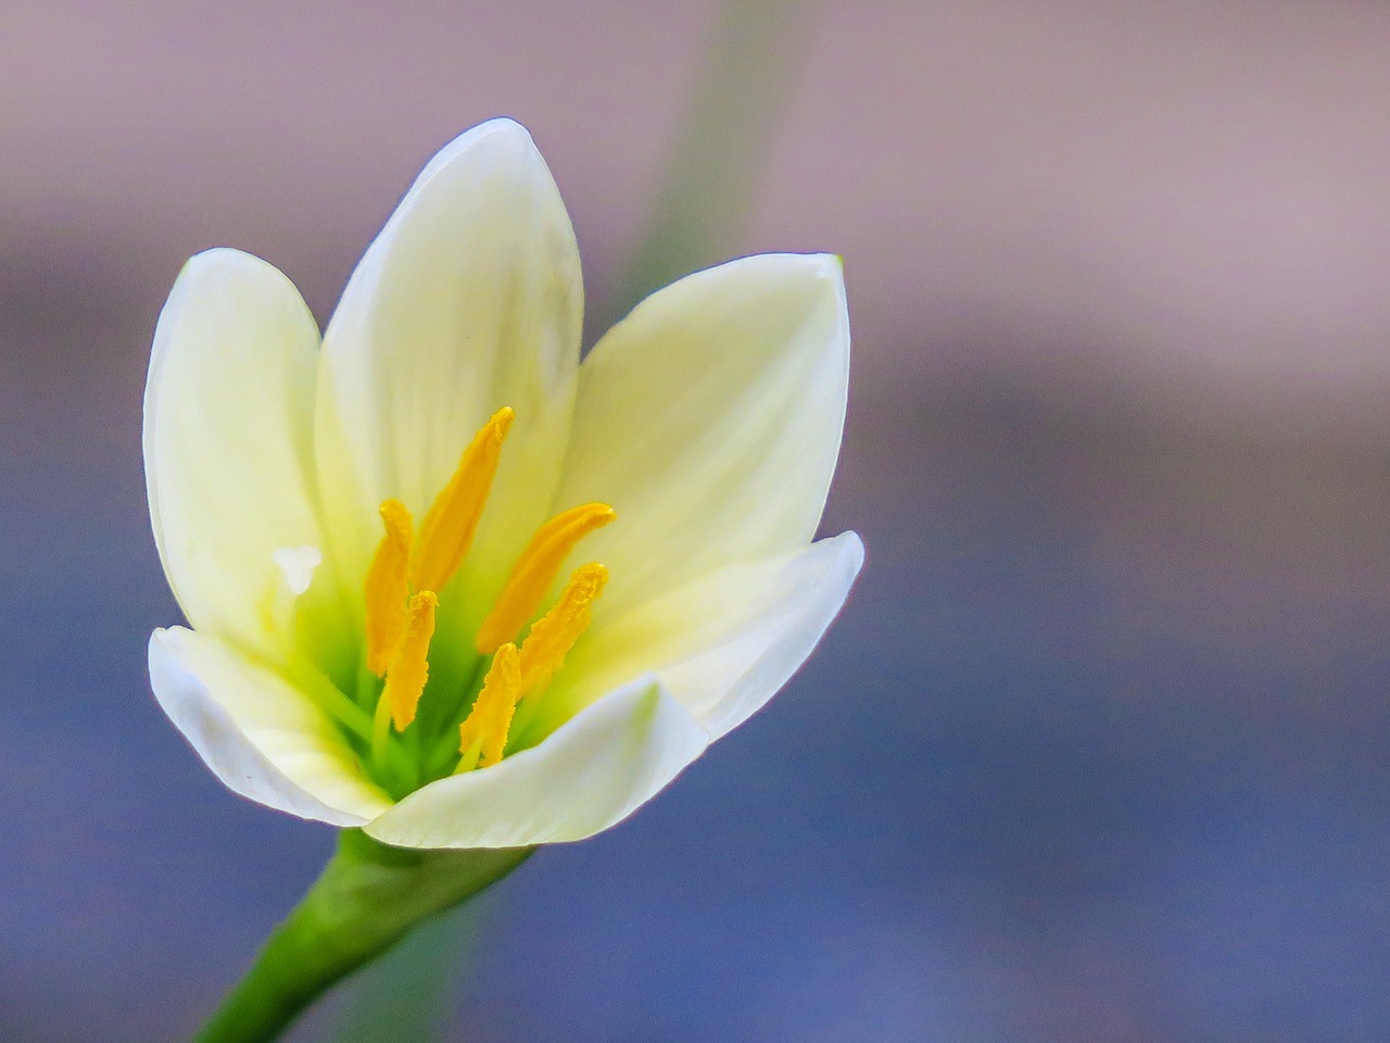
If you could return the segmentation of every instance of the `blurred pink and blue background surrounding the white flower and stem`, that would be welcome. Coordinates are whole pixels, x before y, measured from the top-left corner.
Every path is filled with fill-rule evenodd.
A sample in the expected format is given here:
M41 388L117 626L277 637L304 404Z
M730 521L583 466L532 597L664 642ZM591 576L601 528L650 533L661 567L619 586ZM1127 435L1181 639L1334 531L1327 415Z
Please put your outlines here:
M499 114L589 342L844 254L824 528L869 565L760 716L295 1039L1380 1037L1387 54L1376 0L6 0L0 1037L188 1037L332 846L149 695L178 267L239 246L325 320Z

